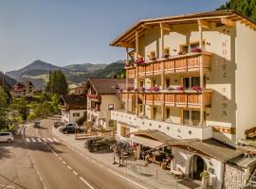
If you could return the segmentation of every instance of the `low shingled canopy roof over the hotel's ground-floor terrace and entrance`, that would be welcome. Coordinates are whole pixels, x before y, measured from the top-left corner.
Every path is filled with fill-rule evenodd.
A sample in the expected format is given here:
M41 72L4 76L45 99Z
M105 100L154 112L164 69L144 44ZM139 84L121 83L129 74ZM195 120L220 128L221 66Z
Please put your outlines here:
M185 147L188 150L201 152L206 156L212 157L224 163L243 153L241 150L236 150L214 139L204 141L200 141L198 139L176 139L156 129L139 130L131 134L157 140L163 145L167 144L175 147Z

